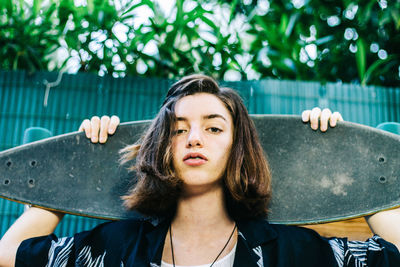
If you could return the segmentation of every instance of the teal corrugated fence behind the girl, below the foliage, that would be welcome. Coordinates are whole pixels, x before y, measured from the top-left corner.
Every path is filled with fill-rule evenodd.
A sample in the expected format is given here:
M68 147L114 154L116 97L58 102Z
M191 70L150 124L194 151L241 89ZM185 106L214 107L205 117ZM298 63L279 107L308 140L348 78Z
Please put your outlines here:
M93 115L115 114L122 121L151 119L173 82L64 74L57 86L47 90L46 97L46 84L57 78L58 73L0 71L0 150L21 144L24 130L31 126L44 127L58 135L77 130L84 118ZM277 80L222 85L238 90L253 114L300 114L319 106L340 111L348 121L370 126L400 122L400 88ZM0 236L22 210L22 205L0 199ZM56 234L71 235L99 222L68 215Z

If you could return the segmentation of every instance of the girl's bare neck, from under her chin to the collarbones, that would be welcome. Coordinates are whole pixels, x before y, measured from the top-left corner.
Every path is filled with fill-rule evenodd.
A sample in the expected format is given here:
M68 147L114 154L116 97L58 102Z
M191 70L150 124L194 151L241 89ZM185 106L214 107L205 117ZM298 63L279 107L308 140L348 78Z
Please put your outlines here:
M199 194L184 194L178 201L173 228L182 231L216 230L233 225L225 208L224 193L216 186Z

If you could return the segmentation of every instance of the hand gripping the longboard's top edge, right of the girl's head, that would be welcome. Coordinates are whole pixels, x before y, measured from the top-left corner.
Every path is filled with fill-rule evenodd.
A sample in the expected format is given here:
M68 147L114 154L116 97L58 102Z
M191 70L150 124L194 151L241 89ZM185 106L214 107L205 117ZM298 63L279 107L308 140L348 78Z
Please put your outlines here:
M321 111L315 107L312 110L304 110L301 114L303 122L310 122L311 129L318 130L320 125L321 132L328 130L328 122L331 127L335 127L338 121L343 121L343 117L339 112L333 112L329 108Z

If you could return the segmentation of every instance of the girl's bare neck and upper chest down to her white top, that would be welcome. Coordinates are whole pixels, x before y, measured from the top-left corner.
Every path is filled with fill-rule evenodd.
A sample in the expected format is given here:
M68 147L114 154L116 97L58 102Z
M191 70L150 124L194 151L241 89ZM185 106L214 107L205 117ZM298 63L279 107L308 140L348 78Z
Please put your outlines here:
M178 265L202 265L223 258L236 244L237 234L228 240L235 222L226 211L222 186L202 193L184 192L164 242L163 260Z

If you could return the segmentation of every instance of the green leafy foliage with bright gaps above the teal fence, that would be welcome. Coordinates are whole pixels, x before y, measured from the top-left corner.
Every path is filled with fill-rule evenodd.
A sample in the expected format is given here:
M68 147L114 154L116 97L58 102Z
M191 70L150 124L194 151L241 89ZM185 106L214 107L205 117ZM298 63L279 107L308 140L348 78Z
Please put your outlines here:
M400 0L0 0L0 68L399 86Z

